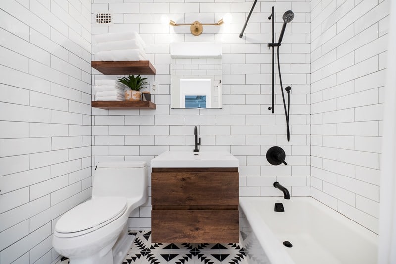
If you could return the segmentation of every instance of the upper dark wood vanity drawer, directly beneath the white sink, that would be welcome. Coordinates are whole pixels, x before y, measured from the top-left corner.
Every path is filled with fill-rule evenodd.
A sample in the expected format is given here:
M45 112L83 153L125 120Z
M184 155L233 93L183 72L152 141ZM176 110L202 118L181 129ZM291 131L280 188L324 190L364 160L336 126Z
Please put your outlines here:
M153 205L238 205L238 172L153 172Z

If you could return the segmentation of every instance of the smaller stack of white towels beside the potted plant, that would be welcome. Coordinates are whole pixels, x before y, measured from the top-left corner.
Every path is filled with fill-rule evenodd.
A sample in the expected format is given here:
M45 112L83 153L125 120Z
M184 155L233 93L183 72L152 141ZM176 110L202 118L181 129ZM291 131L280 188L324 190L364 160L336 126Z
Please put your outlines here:
M94 85L96 101L124 101L124 88L116 80L95 80Z

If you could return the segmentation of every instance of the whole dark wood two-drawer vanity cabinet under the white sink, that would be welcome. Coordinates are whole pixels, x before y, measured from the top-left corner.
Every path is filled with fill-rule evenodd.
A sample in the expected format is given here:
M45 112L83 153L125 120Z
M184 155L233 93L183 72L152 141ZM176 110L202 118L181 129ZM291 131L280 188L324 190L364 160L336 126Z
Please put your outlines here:
M238 168L152 168L153 243L238 243Z

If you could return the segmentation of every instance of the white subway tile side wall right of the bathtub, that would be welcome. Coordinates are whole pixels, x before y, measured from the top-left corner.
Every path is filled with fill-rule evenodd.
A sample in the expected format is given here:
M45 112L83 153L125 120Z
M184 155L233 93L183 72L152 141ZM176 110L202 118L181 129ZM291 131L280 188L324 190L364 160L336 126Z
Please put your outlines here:
M312 197L376 233L389 2L311 1Z

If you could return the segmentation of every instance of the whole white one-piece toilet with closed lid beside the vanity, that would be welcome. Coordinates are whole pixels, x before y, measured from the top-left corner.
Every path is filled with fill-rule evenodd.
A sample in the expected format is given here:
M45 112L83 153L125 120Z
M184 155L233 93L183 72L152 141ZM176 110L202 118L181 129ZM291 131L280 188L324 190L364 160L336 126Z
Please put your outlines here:
M120 264L131 246L127 221L148 198L146 162L99 163L92 199L56 223L53 248L70 264Z

